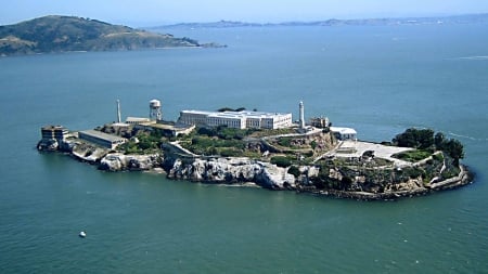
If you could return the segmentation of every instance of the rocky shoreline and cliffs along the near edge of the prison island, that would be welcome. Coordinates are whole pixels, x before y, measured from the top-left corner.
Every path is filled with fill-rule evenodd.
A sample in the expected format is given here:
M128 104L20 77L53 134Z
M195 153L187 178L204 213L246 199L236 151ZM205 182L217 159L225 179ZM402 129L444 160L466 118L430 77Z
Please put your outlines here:
M473 182L473 173L460 166L458 175L425 184L422 178L411 178L401 183L372 181L368 186L365 181L357 179L355 191L318 188L320 168L316 166L298 167L299 175L288 173L288 168L278 167L267 161L245 157L203 157L178 155L170 152L150 155L125 155L87 143L63 143L53 145L39 142L39 151L64 152L73 157L95 165L100 170L118 171L157 171L171 180L191 182L249 185L254 183L264 188L275 191L295 191L317 196L349 198L356 200L393 200L402 197L423 196L434 192L457 188ZM162 172L164 171L164 172ZM339 180L345 174L339 170L330 170L330 178ZM342 179L341 179L342 180ZM362 180L362 181L361 181ZM361 183L362 182L362 183Z

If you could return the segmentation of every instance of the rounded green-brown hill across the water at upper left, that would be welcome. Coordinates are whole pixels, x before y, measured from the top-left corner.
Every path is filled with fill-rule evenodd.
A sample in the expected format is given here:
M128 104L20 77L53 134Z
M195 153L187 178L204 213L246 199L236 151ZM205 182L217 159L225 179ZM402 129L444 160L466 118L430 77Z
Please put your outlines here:
M200 47L190 38L154 34L126 26L50 15L0 26L0 55L69 51L117 51L168 47Z

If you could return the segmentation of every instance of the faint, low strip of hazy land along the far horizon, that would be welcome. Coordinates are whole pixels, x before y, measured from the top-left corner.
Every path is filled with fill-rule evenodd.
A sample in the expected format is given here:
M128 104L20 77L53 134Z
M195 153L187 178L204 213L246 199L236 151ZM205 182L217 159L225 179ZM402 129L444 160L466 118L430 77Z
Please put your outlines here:
M421 25L421 24L467 24L488 23L488 14L467 14L441 17L401 17L401 18L365 18L365 19L325 19L313 22L283 22L283 23L248 23L234 21L219 21L210 23L181 23L153 27L164 28L230 28L230 27L277 27L277 26L381 26L381 25Z

